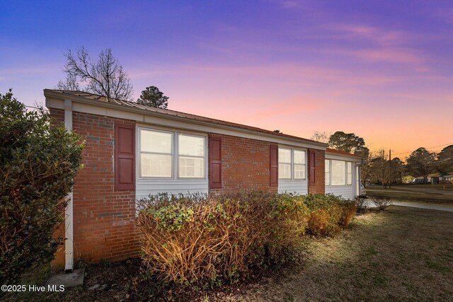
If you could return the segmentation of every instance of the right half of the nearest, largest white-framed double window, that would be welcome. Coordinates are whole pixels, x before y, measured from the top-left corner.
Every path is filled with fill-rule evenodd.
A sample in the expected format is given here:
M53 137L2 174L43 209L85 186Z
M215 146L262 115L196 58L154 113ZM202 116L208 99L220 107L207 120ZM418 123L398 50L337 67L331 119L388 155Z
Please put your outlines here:
M178 178L205 178L205 137L178 134Z

